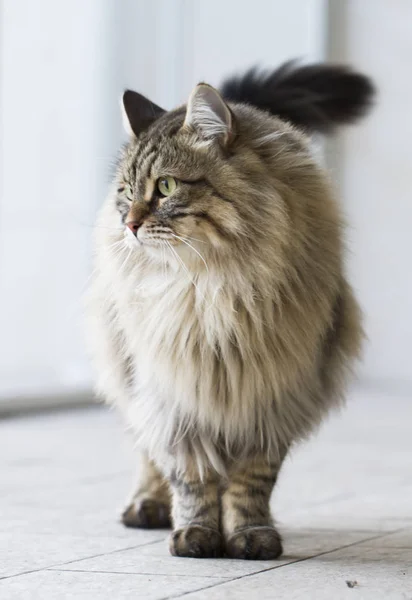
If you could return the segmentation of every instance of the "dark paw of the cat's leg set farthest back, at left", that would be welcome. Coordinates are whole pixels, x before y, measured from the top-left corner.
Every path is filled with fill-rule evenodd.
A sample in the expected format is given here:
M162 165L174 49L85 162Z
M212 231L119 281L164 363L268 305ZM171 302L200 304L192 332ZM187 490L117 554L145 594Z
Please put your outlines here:
M164 529L171 527L170 507L151 498L136 498L124 510L122 522L126 527Z

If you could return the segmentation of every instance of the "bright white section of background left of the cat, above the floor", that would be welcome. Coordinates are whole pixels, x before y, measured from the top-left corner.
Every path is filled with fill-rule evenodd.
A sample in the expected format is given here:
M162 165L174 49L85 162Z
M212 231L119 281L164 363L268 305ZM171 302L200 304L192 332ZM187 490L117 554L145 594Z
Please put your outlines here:
M90 386L77 317L104 193L105 8L100 0L1 6L2 397Z

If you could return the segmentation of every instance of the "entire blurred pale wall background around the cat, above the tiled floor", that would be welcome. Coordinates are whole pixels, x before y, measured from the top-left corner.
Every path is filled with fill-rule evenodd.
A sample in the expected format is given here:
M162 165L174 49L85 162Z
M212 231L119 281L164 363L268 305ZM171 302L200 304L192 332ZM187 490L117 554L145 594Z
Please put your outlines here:
M0 24L0 413L92 398L80 299L122 90L172 108L200 80L293 57L378 88L326 160L366 315L359 383L410 394L410 0L2 0Z

